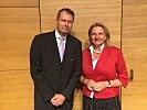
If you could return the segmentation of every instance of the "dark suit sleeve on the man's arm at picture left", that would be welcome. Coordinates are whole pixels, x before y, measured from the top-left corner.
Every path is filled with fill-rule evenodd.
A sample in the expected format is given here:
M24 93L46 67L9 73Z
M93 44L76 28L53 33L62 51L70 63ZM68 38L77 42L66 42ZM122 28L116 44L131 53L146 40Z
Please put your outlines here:
M42 57L41 57L41 43L40 37L36 35L32 41L30 48L30 72L34 82L34 88L39 90L44 101L49 101L53 97L54 91L48 85L42 74Z

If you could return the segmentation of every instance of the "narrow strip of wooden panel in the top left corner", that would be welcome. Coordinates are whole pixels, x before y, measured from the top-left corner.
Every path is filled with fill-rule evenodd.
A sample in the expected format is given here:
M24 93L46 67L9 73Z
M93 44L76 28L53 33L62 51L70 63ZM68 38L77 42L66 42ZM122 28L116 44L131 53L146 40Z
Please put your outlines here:
M39 7L39 0L0 0L0 8L4 7Z

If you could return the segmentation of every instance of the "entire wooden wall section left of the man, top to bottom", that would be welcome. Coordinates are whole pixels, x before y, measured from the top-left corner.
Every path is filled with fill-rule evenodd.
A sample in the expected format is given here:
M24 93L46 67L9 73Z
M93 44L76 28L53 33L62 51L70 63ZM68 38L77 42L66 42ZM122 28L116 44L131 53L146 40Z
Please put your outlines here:
M0 0L0 110L33 110L29 48L40 33L38 2Z

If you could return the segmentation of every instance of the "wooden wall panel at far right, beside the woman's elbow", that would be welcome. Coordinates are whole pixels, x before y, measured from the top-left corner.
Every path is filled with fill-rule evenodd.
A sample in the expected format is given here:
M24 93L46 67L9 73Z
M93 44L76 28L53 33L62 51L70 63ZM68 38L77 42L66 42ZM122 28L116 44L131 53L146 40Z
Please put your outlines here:
M123 110L147 109L147 0L124 0L123 51L134 80L123 89Z

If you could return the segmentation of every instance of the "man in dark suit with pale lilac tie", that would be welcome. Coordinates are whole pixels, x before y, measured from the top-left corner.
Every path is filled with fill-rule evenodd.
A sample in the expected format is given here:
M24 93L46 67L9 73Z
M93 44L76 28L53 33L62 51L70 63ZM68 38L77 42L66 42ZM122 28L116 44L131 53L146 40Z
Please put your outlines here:
M36 35L32 42L30 69L34 81L34 110L72 110L82 62L82 43L69 34L73 22L74 12L63 8L56 15L56 29ZM61 42L63 56L60 56Z

